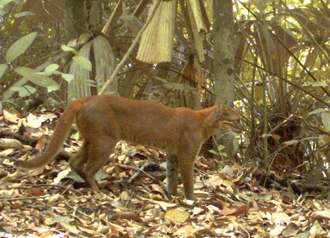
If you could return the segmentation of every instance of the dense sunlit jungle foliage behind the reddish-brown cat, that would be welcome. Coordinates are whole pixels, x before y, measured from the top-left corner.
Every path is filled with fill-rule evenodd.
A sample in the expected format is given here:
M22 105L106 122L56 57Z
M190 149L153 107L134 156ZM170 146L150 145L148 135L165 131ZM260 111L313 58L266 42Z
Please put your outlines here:
M242 115L231 163L266 187L275 176L298 195L317 188L326 198L329 2L155 2L161 14L152 15L151 0L1 1L3 107L25 118L100 92L194 109L220 98ZM223 10L233 12L233 27L218 31L214 16ZM233 40L221 50L233 54L233 72L225 72L235 88L219 95L215 86L229 78L216 76L214 48L226 30Z

